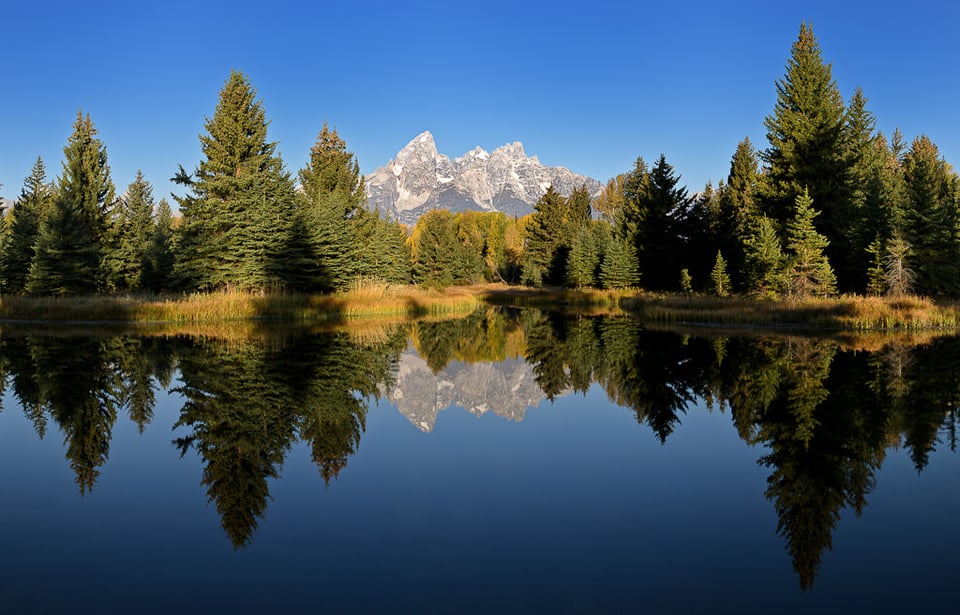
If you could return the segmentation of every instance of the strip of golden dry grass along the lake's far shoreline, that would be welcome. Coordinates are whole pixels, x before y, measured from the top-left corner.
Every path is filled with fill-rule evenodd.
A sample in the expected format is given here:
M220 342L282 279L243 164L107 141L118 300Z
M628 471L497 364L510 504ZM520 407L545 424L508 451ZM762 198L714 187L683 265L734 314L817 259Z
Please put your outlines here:
M549 290L505 284L445 290L375 282L331 294L220 291L181 296L90 295L0 299L0 321L210 324L228 321L330 323L455 317L485 306L532 307L585 315L630 315L651 324L922 330L960 327L960 309L923 297L758 300L642 291Z

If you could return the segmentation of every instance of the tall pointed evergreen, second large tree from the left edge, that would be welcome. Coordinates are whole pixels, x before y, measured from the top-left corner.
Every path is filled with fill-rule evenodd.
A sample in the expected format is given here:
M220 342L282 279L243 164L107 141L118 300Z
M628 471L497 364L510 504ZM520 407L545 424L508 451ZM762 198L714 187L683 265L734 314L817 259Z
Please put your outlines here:
M63 148L57 197L40 223L25 287L30 294L92 293L100 283L114 187L96 134L90 116L78 112Z

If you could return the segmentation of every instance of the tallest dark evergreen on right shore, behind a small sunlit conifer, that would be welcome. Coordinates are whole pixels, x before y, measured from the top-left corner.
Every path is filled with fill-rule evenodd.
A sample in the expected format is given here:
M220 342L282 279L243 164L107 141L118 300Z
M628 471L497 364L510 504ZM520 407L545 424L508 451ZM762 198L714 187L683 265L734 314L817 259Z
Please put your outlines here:
M825 208L820 228L839 246L839 226L848 207L844 103L811 25L800 25L786 68L776 84L773 113L764 121L770 143L763 152L764 210L785 225L796 199L807 190Z

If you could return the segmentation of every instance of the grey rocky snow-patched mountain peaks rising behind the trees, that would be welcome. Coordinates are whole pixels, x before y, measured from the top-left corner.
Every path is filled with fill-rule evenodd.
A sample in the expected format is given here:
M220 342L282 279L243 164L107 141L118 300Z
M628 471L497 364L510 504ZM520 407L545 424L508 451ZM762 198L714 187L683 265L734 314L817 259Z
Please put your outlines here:
M520 142L492 152L476 147L450 160L437 151L429 131L414 137L387 166L365 179L370 206L407 224L431 209L524 216L551 185L563 195L580 185L593 196L603 188L595 179L528 157Z

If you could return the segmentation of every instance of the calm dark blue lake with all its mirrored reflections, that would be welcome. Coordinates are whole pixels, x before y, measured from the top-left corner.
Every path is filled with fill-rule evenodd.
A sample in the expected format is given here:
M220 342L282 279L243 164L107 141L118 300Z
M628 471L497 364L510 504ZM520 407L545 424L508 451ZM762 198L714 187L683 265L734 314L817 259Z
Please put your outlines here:
M960 340L0 337L0 609L949 612Z

